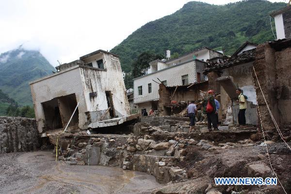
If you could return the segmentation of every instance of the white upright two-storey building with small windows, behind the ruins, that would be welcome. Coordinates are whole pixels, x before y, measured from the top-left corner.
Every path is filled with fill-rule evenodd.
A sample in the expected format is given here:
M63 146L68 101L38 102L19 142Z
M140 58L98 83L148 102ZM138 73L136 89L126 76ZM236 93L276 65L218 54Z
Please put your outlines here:
M139 112L142 109L149 111L150 108L157 110L160 98L160 81L166 86L188 85L194 82L205 81L206 77L202 73L206 67L206 60L220 56L223 56L220 52L203 48L177 59L150 62L147 74L133 79L133 103L138 105Z

